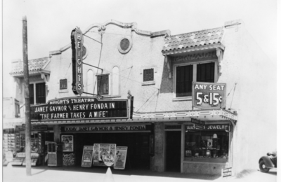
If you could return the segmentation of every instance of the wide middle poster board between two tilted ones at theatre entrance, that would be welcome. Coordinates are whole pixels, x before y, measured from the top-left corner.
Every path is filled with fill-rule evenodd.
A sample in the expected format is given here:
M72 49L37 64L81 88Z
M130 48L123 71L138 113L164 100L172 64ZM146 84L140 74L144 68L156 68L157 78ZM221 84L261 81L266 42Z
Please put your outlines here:
M115 151L116 144L93 144L93 166L107 166L104 162L105 155L113 157ZM110 160L114 160L114 158L110 158Z

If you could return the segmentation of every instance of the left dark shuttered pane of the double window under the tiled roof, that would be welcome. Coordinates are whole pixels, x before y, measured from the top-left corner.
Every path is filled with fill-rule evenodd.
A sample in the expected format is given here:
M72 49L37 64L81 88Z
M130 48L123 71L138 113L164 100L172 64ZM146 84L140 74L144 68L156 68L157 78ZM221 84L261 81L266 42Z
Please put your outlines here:
M176 67L176 97L192 94L193 65Z

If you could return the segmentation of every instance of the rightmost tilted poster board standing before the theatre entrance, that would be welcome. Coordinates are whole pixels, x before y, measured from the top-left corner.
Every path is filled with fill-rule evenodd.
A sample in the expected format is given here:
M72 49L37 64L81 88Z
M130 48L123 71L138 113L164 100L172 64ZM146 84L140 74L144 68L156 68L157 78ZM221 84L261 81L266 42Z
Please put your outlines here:
M114 169L125 169L127 151L127 146L116 147Z

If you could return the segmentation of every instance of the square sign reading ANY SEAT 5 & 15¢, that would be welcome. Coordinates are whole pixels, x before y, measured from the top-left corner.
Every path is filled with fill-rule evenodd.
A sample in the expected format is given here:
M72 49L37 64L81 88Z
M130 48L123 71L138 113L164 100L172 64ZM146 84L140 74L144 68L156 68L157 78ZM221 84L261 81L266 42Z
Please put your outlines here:
M192 106L199 109L226 108L226 83L192 83Z

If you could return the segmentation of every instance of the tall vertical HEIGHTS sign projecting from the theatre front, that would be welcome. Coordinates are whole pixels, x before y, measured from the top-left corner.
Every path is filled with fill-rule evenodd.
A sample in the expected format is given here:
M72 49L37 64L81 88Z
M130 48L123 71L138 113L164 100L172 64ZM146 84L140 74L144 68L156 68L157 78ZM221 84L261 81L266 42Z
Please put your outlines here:
M77 27L71 31L72 48L72 91L74 94L83 93L83 33Z

